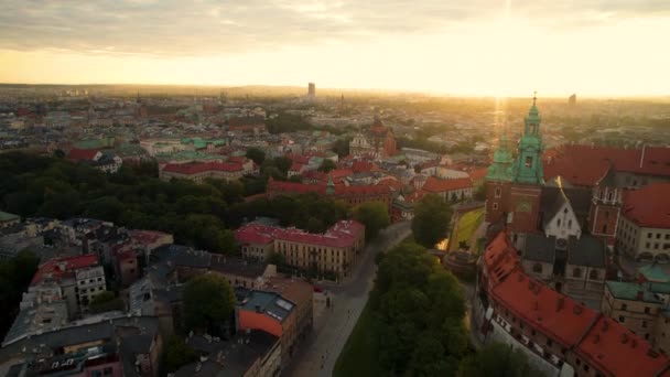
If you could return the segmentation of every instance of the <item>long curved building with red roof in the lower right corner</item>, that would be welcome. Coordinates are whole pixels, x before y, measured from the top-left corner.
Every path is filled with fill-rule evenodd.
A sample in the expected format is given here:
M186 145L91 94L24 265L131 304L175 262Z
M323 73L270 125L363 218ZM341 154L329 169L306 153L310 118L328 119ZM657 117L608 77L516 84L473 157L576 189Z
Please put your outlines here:
M508 338L556 368L568 364L575 376L670 373L668 358L647 341L528 276L505 231L487 245L480 269L479 287L494 310L484 331L507 332Z

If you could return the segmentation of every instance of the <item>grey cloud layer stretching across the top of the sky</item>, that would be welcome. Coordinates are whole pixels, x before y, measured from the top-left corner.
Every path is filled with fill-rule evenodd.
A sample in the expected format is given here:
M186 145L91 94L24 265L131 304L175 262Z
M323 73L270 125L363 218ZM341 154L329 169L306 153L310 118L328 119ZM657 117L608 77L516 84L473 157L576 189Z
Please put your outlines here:
M506 4L505 0L4 0L0 49L182 56L268 51L457 31L501 17ZM670 1L537 0L511 2L510 8L516 17L561 29L664 17Z

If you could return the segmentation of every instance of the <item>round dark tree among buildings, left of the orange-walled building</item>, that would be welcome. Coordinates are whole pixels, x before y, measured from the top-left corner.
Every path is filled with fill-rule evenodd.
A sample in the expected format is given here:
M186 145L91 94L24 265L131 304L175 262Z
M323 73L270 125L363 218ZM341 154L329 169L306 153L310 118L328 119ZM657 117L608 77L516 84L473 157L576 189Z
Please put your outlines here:
M184 288L186 330L220 333L230 321L237 300L228 281L217 274L201 274Z

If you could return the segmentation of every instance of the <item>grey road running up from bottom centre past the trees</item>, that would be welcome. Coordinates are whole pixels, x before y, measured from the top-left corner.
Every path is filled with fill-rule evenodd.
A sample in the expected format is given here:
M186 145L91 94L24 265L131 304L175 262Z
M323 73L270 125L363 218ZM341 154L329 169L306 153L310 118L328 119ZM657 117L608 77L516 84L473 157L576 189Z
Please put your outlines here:
M377 266L375 255L379 250L399 244L411 234L411 223L396 223L380 231L376 241L368 245L353 273L338 284L323 283L333 303L327 312L314 321L314 330L300 346L295 359L284 370L284 376L320 376L333 374L337 356L354 330L372 289Z

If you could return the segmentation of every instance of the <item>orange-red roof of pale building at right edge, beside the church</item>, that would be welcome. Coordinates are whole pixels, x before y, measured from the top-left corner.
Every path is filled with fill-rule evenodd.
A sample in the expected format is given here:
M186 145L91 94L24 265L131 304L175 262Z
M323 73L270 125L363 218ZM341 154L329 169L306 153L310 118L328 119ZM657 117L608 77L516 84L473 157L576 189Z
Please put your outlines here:
M624 193L624 216L652 228L670 228L670 183L652 183Z

